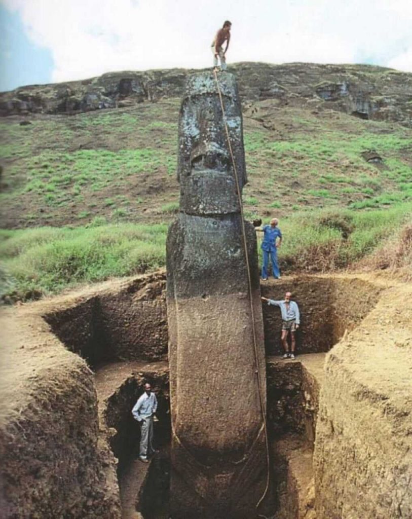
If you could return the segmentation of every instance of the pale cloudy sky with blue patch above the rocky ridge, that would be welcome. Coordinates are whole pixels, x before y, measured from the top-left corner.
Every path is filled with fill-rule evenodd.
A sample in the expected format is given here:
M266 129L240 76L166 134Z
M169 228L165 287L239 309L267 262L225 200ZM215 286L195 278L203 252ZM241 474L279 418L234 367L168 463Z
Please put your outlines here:
M0 91L227 61L369 63L412 72L412 0L0 0Z

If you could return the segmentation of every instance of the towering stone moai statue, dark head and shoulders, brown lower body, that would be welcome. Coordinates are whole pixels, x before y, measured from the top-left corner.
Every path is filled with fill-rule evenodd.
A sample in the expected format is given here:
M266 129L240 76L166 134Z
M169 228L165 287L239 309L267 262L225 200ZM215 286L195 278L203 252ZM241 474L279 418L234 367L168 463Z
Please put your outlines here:
M218 78L242 189L236 80L229 73ZM167 240L170 514L244 519L256 514L268 470L262 306L255 230L245 222L255 349L240 203L212 72L187 80L178 154L180 213Z

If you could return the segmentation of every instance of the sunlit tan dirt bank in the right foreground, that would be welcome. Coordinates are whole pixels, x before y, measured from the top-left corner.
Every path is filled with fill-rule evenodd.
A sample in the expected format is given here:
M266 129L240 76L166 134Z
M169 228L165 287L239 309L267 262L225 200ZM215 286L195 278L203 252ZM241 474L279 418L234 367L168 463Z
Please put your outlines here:
M326 356L314 450L318 519L412 517L412 288L387 289Z

